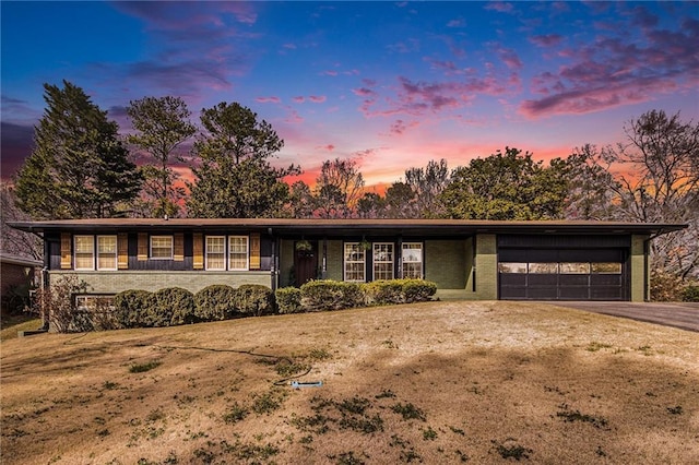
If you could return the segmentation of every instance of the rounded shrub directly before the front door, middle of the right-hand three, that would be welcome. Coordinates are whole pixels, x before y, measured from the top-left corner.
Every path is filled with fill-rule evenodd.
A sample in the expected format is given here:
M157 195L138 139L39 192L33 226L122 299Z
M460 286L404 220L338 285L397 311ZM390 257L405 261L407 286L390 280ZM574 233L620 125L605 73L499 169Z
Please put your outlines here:
M364 293L356 283L330 279L310 281L304 284L301 305L307 311L340 310L364 306Z

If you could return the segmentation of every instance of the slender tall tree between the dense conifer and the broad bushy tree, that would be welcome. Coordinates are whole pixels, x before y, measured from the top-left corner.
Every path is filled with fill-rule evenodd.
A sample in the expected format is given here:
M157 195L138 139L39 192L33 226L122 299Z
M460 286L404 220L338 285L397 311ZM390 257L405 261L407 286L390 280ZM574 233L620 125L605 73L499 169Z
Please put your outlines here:
M191 112L181 98L167 96L132 100L127 114L137 131L127 140L150 158L141 167L144 183L140 213L152 217L177 216L185 192L175 187L177 175L171 163L182 160L175 151L197 131L189 122Z

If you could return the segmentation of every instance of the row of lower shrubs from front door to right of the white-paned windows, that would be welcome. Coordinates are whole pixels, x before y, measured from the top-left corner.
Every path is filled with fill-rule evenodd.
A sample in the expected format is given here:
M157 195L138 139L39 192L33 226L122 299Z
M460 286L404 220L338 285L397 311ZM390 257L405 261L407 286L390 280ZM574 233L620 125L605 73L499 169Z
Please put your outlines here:
M311 281L300 288L275 293L280 313L340 310L367 305L412 303L429 300L437 285L424 279L383 279L366 284Z

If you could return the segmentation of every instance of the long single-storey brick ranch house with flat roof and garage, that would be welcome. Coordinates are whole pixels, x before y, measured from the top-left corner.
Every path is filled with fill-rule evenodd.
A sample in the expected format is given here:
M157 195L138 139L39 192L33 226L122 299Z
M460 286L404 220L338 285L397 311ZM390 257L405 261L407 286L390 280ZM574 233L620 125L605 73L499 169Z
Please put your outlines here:
M461 219L71 219L15 222L45 241L47 279L90 296L178 286L425 278L438 297L649 297L649 241L686 225ZM50 284L50 283L46 283Z

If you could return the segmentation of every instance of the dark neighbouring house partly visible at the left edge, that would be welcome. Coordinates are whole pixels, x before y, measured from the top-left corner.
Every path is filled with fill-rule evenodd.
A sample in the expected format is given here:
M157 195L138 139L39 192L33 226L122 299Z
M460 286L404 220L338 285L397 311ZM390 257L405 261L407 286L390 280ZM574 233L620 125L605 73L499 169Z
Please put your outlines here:
M42 261L27 257L0 253L0 296L2 314L24 308L29 288L38 279Z

